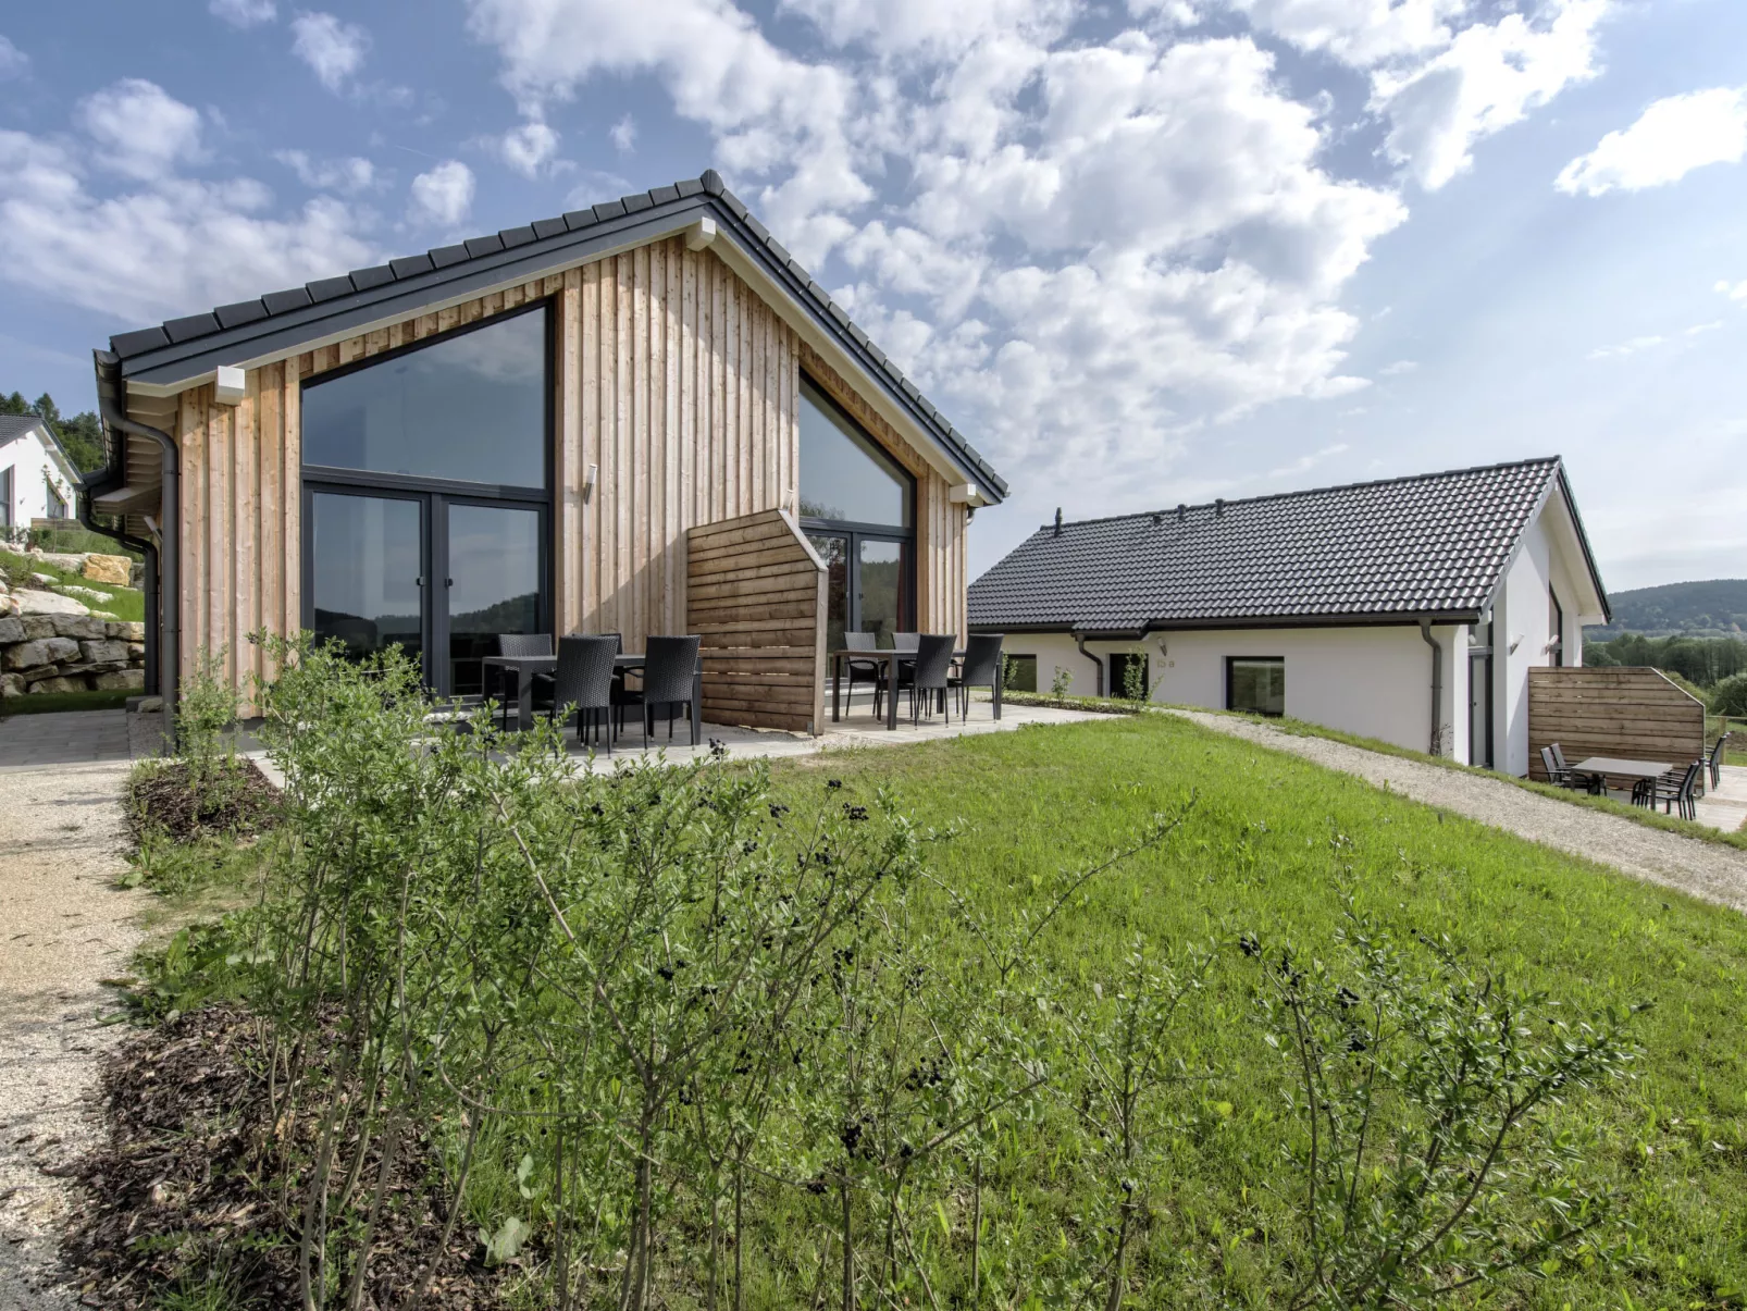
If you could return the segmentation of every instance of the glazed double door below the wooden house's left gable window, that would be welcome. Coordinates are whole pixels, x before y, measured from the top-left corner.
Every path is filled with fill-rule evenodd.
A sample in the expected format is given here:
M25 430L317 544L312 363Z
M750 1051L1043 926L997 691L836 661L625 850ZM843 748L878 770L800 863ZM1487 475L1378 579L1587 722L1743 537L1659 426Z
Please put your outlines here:
M550 631L545 521L543 505L311 488L306 624L356 659L398 645L433 692L479 696L500 633Z

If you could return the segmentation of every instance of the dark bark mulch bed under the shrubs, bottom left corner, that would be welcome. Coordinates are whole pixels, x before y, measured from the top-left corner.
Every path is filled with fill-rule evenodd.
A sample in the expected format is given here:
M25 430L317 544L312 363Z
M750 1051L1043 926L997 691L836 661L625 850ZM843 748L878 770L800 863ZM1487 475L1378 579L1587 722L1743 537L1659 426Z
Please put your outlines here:
M61 1243L86 1306L147 1311L164 1290L208 1271L225 1273L238 1306L299 1306L302 1197L292 1189L292 1215L283 1215L274 1171L262 1161L264 1145L280 1150L266 1124L257 1073L264 1063L253 1019L229 1005L143 1031L101 1058L107 1141L68 1171L80 1187ZM307 1157L316 1127L313 1112L299 1117L292 1150ZM376 1171L372 1152L365 1178ZM437 1253L447 1206L437 1178L430 1141L402 1152L370 1252L365 1306L400 1306ZM501 1308L503 1271L487 1271L479 1255L463 1220L425 1306Z

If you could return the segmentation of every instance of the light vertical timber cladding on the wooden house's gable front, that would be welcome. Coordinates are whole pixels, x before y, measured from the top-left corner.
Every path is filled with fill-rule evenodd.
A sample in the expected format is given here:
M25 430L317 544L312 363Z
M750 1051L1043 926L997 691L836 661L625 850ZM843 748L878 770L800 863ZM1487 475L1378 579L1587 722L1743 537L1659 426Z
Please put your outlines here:
M183 675L224 649L246 690L273 673L248 635L302 622L302 383L542 299L557 633L620 633L634 649L690 631L687 533L795 509L802 371L915 475L919 622L966 631L966 510L947 481L716 255L674 238L262 365L238 406L211 385L155 402L182 446Z

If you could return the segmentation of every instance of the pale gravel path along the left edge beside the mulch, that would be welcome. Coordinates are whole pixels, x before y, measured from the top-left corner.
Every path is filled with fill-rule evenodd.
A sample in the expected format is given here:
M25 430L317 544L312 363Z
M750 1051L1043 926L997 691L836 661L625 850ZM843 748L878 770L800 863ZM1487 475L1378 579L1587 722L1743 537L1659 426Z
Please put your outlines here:
M0 773L0 1308L59 1311L45 1287L66 1204L52 1173L87 1145L96 1052L121 1037L98 982L126 974L145 893L126 865L124 762Z

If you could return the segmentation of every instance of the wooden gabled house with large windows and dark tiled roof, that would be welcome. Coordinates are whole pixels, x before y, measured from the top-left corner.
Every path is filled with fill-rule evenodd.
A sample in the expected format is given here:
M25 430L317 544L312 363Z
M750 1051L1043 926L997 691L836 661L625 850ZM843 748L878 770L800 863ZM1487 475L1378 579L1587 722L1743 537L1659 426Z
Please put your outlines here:
M86 491L148 554L148 676L257 631L704 638L704 715L818 731L846 628L963 635L1005 482L713 171L124 332Z

